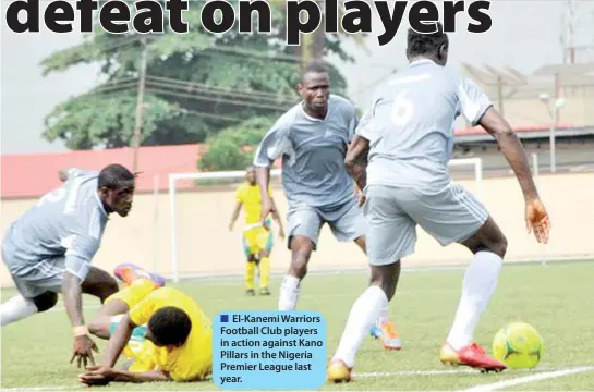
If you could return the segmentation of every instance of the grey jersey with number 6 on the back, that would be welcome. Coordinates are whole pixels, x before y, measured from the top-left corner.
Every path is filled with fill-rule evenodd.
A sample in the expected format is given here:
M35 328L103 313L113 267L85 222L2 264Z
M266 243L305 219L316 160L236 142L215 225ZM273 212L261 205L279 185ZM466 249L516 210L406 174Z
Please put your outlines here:
M377 88L356 131L371 145L367 183L445 186L456 118L475 125L490 106L470 79L431 60L411 63Z

